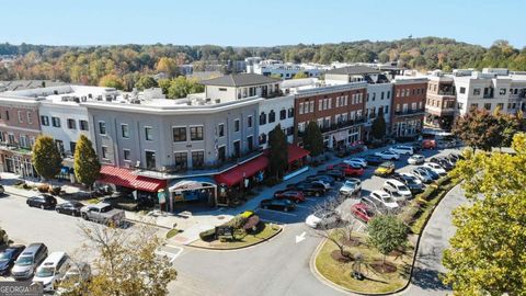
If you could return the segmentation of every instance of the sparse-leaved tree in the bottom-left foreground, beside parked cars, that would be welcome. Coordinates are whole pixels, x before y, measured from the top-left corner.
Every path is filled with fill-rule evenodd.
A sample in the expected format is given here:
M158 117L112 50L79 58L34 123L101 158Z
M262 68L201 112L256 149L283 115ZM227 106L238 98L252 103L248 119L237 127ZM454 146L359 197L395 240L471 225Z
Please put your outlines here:
M168 295L168 284L178 273L168 257L156 254L163 240L155 229L140 225L129 234L126 229L81 224L80 230L87 241L80 252L98 254L91 263L96 273L79 284L62 281L60 285L70 291L68 295L84 295L85 291L93 296Z

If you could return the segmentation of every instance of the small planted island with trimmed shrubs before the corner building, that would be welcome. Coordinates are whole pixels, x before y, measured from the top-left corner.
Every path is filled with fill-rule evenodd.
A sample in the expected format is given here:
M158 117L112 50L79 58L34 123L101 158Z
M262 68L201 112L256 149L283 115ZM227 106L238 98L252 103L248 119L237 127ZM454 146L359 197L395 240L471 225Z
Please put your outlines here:
M253 212L247 210L214 229L201 232L201 239L190 246L214 250L242 249L266 241L282 229L278 225L260 220Z

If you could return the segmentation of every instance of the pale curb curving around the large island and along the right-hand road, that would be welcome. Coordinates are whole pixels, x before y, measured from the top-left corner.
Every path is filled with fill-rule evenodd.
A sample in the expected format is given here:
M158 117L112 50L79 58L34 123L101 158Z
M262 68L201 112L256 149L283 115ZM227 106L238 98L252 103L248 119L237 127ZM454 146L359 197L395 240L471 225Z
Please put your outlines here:
M310 272L315 275L316 278L318 278L318 281L320 281L322 284L324 284L325 286L329 286L338 292L341 292L341 293L345 293L347 295L352 295L352 294L356 294L356 295L375 295L375 296L378 296L378 295L400 295L401 293L405 293L409 291L409 288L411 288L411 283L412 283L412 280L413 280L413 271L414 271L414 264L416 262L416 254L418 254L418 251L419 251L419 247L420 247L420 240L422 238L422 234L424 232L425 228L427 227L427 223L431 220L431 217L433 216L433 214L435 213L435 209L438 207L438 205L444 201L444 198L446 197L447 194L449 194L449 192L451 192L453 190L455 190L457 186L459 186L460 183L456 184L455 186L453 186L448 192L446 192L446 194L444 195L444 197L442 197L442 200L435 205L435 207L433 207L432 212L431 212L431 215L428 216L427 220L425 220L424 223L424 226L422 227L422 232L421 235L419 236L419 239L416 240L416 244L414 246L414 254L413 254L413 259L412 259L412 262L411 262L411 272L409 274L409 281L408 283L397 289L397 291L393 291L393 292L390 292L390 293L363 293L363 292L357 292L357 291L352 291L352 289L348 289L348 288L345 288L345 287L342 287L338 284L334 284L333 282L329 281L325 276L323 276L319 271L318 269L316 267L316 258L318 257L321 248L323 247L323 244L327 242L327 239L324 239L323 241L321 241L318 247L316 248L315 252L312 253L312 255L310 257L310 260L309 260L309 267L310 267Z

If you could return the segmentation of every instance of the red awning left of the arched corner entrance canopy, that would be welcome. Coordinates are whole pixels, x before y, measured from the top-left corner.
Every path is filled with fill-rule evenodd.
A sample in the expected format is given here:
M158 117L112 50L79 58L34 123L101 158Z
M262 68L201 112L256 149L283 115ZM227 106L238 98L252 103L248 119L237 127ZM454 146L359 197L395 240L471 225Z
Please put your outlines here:
M157 192L167 186L165 180L133 174L130 170L111 166L102 166L99 181L123 187Z

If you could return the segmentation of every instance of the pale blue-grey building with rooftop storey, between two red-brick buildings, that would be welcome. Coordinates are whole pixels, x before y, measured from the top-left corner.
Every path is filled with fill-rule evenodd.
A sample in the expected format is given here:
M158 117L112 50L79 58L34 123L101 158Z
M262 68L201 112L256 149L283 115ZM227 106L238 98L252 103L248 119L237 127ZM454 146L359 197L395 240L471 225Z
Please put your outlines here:
M342 84L353 81L367 82L367 96L364 111L364 139L371 139L370 128L378 114L384 114L386 126L391 121L392 83L387 75L380 70L365 66L347 66L336 68L325 73L327 84Z

